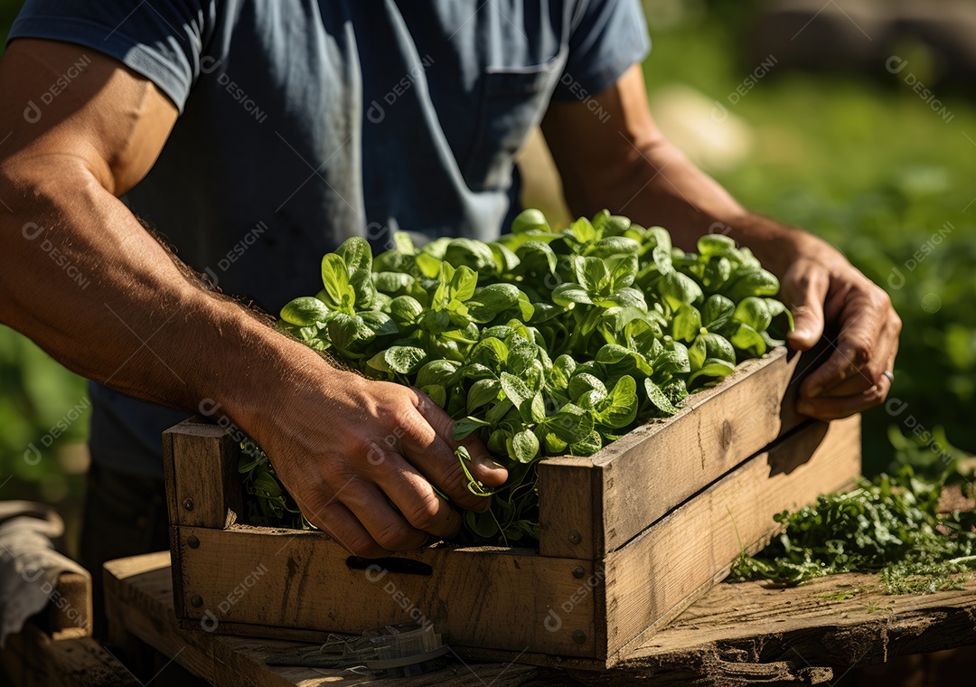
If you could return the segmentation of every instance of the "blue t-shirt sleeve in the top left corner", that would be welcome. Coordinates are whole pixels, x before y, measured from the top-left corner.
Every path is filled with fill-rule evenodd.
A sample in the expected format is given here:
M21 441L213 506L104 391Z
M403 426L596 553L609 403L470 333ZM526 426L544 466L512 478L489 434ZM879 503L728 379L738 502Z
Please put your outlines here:
M206 0L27 0L7 43L45 38L90 48L142 74L183 112L213 30L214 5Z

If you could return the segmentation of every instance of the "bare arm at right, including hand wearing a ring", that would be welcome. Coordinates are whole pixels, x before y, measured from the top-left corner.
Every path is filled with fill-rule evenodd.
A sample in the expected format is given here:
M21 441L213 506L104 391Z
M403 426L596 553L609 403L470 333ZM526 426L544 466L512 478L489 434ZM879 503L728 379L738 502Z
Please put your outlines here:
M817 343L825 319L839 328L832 355L801 386L800 411L829 420L883 401L890 382L882 372L894 365L901 331L887 295L834 247L750 213L691 164L655 125L639 65L595 100L610 114L605 122L582 102L552 102L543 121L573 212L606 207L661 224L684 248L720 227L780 277L794 348Z

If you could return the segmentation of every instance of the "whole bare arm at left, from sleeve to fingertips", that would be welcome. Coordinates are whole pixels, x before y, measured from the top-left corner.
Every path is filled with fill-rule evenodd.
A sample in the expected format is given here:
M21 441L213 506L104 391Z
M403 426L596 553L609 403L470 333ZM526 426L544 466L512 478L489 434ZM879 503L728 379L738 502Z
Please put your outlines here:
M0 61L0 130L12 132L0 144L0 321L126 393L190 412L219 403L262 444L308 519L359 555L457 532L460 517L427 480L464 507L488 502L465 488L439 408L329 367L201 288L117 199L162 149L172 102L88 51L85 72L39 120L24 118L38 85L83 52L17 40ZM478 478L502 483L484 447L465 443Z

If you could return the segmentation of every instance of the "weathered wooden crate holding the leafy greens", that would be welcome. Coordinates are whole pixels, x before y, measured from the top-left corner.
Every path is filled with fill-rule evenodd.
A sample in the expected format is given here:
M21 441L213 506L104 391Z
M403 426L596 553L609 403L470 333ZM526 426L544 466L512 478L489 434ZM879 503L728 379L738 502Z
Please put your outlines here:
M812 356L811 356L812 357ZM539 468L540 550L431 546L368 561L318 532L251 527L232 431L163 435L183 627L321 641L410 620L462 656L610 667L775 534L772 516L860 472L860 421L793 412L776 349L591 458Z

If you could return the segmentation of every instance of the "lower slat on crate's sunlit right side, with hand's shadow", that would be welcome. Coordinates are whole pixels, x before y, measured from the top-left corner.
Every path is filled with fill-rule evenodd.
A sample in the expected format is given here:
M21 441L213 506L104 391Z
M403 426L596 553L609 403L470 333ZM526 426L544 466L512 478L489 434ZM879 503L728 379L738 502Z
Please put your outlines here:
M809 421L609 555L608 653L676 617L727 574L741 550L764 546L773 515L839 489L861 470L860 416Z

